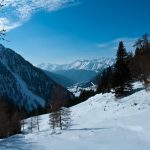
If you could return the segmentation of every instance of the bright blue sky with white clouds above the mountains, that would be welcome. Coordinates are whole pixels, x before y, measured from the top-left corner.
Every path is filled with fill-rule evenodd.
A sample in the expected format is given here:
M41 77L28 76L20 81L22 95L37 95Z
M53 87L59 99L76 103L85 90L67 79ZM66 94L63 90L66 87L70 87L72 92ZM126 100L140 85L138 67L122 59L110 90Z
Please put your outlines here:
M149 0L6 1L0 26L10 42L3 44L34 65L115 57L120 40L131 51L150 33L149 6Z

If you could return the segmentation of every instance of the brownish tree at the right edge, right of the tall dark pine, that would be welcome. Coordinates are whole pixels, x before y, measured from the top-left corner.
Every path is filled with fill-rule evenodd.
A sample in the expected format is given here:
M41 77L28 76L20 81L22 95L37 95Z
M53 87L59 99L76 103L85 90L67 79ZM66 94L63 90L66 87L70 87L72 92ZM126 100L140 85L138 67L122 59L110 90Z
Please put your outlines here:
M134 45L134 68L137 79L144 83L146 90L150 89L150 40L149 35L144 34Z

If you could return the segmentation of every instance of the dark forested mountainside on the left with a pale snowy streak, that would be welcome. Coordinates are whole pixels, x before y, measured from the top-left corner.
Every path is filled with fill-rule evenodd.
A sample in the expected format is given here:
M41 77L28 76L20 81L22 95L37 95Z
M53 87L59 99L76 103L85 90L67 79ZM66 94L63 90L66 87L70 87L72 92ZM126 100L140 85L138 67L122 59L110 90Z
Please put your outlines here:
M73 99L72 93L50 79L22 56L0 45L0 96L31 111L55 99Z

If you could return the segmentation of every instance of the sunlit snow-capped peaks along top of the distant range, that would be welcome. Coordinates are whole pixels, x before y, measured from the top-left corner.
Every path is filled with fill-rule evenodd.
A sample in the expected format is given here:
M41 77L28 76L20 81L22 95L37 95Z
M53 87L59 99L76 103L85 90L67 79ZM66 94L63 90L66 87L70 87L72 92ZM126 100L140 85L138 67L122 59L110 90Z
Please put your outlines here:
M77 60L70 64L63 64L63 65L42 63L39 64L37 67L52 72L58 70L71 70L71 69L99 71L113 64L114 64L114 59L100 58L100 59L93 59L93 60Z

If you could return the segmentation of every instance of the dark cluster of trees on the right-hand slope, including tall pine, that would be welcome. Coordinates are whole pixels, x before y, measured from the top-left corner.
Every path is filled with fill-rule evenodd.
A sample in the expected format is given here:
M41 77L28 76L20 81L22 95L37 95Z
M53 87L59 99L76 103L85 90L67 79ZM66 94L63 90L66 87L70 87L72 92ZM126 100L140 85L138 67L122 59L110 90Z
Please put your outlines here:
M123 41L119 43L116 62L98 77L96 93L115 93L116 98L133 92L133 82L141 81L146 90L150 87L150 40L144 34L134 44L135 54L127 52Z

